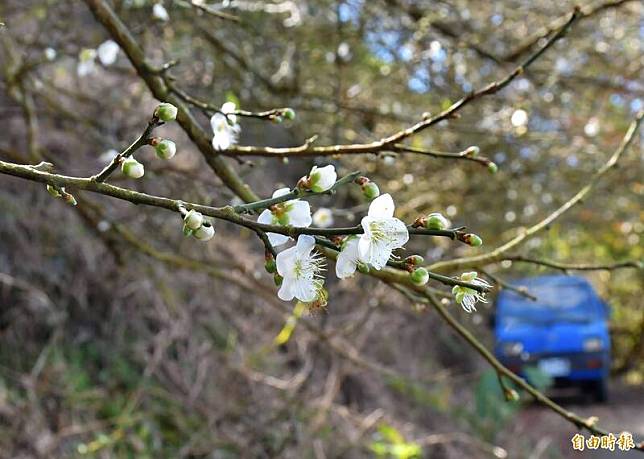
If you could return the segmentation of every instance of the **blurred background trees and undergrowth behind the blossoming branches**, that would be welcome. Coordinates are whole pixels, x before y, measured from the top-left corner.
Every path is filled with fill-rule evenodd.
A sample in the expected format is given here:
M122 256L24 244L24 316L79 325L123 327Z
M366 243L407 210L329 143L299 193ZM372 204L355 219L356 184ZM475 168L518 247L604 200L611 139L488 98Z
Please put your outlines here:
M370 141L402 129L505 75L525 55L515 51L573 7L228 3L241 24L185 1L165 3L168 22L154 19L149 1L114 6L152 61L179 59L177 82L191 93L217 105L236 98L249 110L293 107L293 122L242 121L241 144L272 146L313 134L320 145ZM569 199L642 109L644 10L615 3L503 92L414 138L444 151L478 145L498 174L402 154L331 161L368 173L407 221L440 211L487 247L508 240ZM77 75L80 51L109 38L83 2L6 0L0 20L0 156L45 158L71 175L99 170L156 102L122 53L113 66ZM185 134L163 129L176 158L162 163L145 151L146 179L129 185L231 202ZM236 167L268 196L312 164L253 158ZM641 260L642 172L640 140L588 202L521 253ZM300 317L276 345L292 306L275 297L254 234L218 224L203 245L154 209L89 194L71 208L39 185L7 177L0 185L0 457L519 457L539 441L517 435L508 420L524 408L502 404L494 374L438 317L374 280L330 281L328 312ZM355 190L318 204L339 223L367 208ZM431 261L480 250L438 238L415 244L409 249ZM489 270L503 279L545 271L509 262ZM588 276L613 308L615 374L641 385L641 271ZM491 343L487 308L450 308ZM547 451L557 457L558 446Z

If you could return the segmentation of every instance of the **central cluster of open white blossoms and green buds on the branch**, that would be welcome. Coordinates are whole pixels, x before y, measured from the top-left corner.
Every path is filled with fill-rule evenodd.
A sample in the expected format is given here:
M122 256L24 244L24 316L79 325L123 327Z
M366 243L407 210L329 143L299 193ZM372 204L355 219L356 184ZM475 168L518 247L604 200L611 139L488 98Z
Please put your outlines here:
M307 189L323 193L333 188L337 180L335 168L314 166L311 172L298 181L298 189ZM342 242L338 254L335 272L338 278L345 279L355 274L356 270L367 272L370 269L381 270L392 258L396 249L403 248L409 240L409 230L404 222L394 217L395 204L389 194L379 195L377 186L366 177L360 177L356 183L361 185L363 194L372 199L369 211L362 218L362 234L351 235ZM273 198L279 198L291 193L288 188L281 188L273 193ZM297 195L297 193L296 193ZM259 216L258 222L275 226L294 226L306 228L315 223L326 227L332 220L329 209L319 209L311 217L309 203L300 199L289 199L274 204L265 209ZM413 226L424 226L427 229L445 230L451 225L450 221L440 213L432 213L417 220ZM273 247L286 244L290 238L283 234L267 233ZM480 245L480 238L473 234L463 236L470 245ZM475 240L477 238L478 240ZM300 235L294 247L283 250L275 261L268 255L266 269L275 273L276 283L280 286L278 296L282 300L293 298L306 303L310 308L318 308L326 304L328 294L324 289L325 263L323 257L315 250L315 238ZM419 266L422 257L412 255L404 260L403 265L410 273L410 281L414 285L425 285L430 278L426 268ZM461 281L474 285L490 287L482 279L477 279L476 273L465 273ZM474 311L477 301L485 301L484 294L467 287L454 288L456 301L468 311Z

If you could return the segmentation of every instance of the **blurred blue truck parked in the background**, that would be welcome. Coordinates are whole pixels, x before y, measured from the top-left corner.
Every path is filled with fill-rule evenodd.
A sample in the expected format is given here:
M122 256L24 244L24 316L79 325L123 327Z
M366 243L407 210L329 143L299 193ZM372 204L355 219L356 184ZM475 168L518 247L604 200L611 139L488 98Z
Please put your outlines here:
M584 278L539 276L512 282L536 300L512 290L499 293L494 320L497 358L526 377L537 367L556 387L578 386L595 400L608 398L609 309Z

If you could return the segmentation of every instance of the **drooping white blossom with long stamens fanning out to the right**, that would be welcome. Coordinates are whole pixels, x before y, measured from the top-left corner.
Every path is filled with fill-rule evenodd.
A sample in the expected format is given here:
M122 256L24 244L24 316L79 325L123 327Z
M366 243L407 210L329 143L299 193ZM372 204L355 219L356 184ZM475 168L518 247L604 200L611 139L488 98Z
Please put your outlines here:
M315 301L324 285L324 259L313 252L315 238L305 234L297 238L295 247L280 252L275 260L282 286L277 296L284 301L297 298L305 303Z

